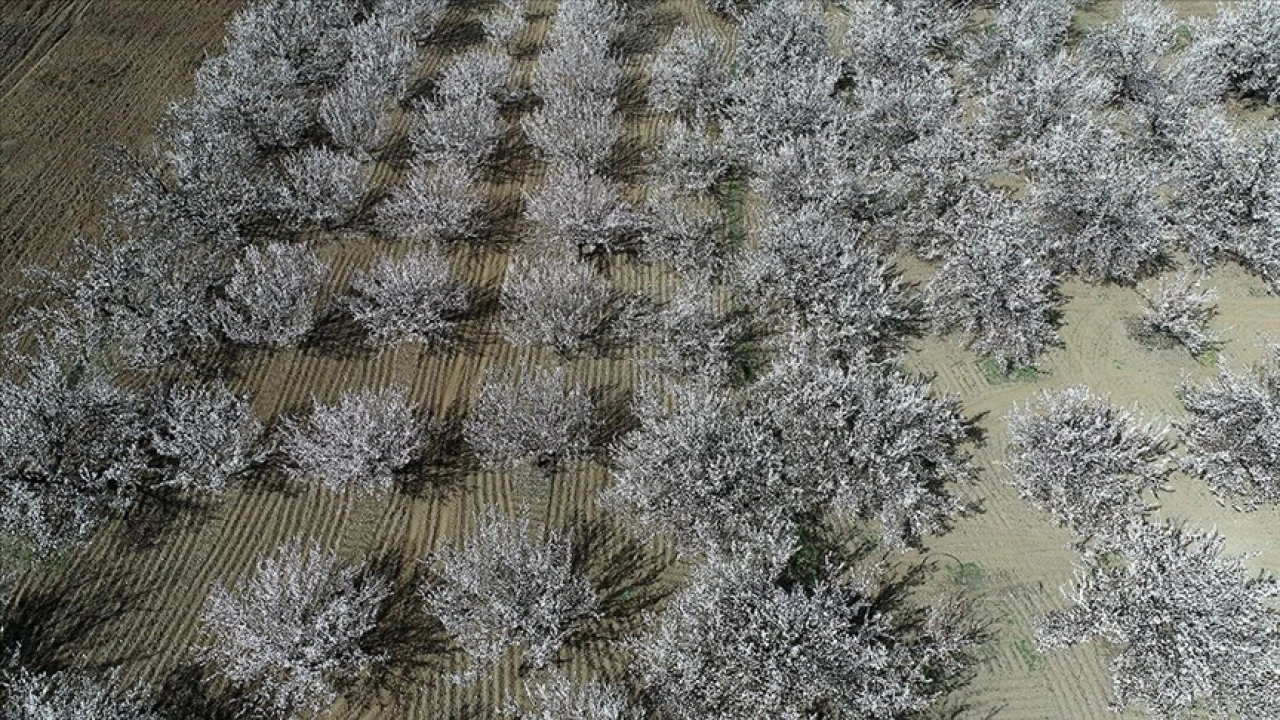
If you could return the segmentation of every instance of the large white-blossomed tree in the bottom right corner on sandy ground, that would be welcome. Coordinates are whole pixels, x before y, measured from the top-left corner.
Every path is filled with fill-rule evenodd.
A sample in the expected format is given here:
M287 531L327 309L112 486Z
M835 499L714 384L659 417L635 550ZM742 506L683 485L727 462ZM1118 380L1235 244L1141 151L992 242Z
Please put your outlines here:
M1043 647L1116 647L1114 706L1152 717L1262 720L1280 712L1280 583L1222 556L1221 536L1133 521L1115 555L1091 552L1073 602L1039 623ZM1119 562L1117 562L1119 560Z

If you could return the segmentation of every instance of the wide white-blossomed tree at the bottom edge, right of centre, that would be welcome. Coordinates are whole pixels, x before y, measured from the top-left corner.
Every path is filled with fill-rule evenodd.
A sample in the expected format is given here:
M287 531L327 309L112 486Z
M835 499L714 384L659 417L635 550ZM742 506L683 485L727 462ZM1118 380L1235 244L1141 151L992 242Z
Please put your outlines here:
M954 605L916 611L913 623L877 600L870 574L785 588L787 555L764 566L712 555L628 643L662 717L914 716L968 665L974 633Z

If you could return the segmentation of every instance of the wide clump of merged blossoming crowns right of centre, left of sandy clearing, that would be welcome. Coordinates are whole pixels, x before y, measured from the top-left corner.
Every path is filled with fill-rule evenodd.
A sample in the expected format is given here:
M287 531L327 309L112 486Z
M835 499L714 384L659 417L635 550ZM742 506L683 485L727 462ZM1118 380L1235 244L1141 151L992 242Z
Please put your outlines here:
M786 536L826 512L914 542L959 511L948 486L972 474L956 404L887 365L836 369L801 352L740 393L692 384L673 407L641 397L604 498L686 547Z

